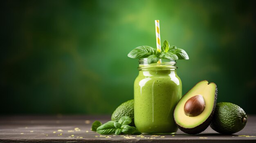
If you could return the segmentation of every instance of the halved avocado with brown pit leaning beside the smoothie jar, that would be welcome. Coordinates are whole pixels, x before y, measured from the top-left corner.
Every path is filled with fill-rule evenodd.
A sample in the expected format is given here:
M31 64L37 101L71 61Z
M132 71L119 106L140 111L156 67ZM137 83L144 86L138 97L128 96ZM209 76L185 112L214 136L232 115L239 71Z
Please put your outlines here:
M197 98L197 97L203 97ZM197 100L204 100L199 102ZM211 123L214 109L217 101L217 86L215 83L209 83L207 80L198 82L189 92L187 92L177 103L174 110L174 120L180 130L187 134L198 134L204 131ZM203 109L201 103L204 103ZM185 106L186 105L186 106ZM188 115L188 107L191 109L195 116ZM199 113L199 114L198 114Z

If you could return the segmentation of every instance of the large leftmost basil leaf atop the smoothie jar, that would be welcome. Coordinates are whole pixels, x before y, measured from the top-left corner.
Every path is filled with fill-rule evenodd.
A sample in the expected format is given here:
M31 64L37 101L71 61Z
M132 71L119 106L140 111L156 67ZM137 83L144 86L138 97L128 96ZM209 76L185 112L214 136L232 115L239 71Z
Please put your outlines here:
M135 58L135 59L141 59L146 58L150 55L153 55L155 53L156 49L150 47L150 46L139 46L128 54L128 57Z

